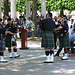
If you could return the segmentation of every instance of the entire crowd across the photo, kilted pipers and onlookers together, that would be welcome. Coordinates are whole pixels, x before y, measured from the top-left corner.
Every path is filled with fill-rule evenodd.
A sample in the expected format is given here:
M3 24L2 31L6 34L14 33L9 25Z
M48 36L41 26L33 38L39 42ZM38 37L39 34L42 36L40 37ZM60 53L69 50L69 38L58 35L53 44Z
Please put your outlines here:
M37 16L37 37L42 37L41 47L45 48L45 54L47 60L45 63L53 63L54 56L58 56L64 48L64 56L62 60L68 59L68 51L71 49L71 53L74 53L73 42L75 41L75 20L71 17L55 16L52 18L52 13L48 13L46 18L44 16ZM16 39L21 37L21 32L19 32L18 27L23 27L27 29L27 37L33 36L33 31L35 30L35 25L31 20L28 20L24 16L20 16L19 19L6 17L5 19L0 18L0 62L7 62L3 58L5 47L8 48L10 58L18 58L20 55L17 54L17 44ZM16 38L17 36L17 38ZM57 41L59 40L59 41ZM54 55L54 49L57 48L59 43L59 49ZM12 56L12 48L14 56Z

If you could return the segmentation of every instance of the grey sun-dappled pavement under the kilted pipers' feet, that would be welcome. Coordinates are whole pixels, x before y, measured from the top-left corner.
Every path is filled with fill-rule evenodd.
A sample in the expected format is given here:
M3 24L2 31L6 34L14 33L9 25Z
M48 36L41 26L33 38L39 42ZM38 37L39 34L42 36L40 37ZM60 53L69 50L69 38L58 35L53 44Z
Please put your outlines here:
M75 56L61 60L62 50L60 57L55 57L54 63L43 63L46 57L40 42L28 42L27 50L20 50L21 43L17 44L20 57L10 59L6 50L5 59L8 62L0 63L0 75L75 75Z

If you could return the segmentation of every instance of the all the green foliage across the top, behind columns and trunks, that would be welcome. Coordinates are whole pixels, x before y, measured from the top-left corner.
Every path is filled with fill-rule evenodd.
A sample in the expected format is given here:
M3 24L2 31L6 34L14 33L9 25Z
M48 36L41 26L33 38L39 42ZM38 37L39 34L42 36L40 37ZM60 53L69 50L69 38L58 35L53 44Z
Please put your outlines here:
M16 11L26 12L27 0L16 0ZM51 5L51 11L58 11L61 9L75 10L75 0L46 0L46 9ZM32 11L33 0L30 0L30 9ZM4 12L4 3L1 3L1 10ZM41 11L41 0L37 0L37 10ZM10 11L10 2L9 2Z

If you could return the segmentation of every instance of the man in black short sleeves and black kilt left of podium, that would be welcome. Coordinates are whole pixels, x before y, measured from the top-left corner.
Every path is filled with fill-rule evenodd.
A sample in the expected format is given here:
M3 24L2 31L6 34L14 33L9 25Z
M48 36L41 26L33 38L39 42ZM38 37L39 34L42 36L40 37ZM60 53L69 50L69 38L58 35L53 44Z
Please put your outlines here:
M20 55L17 54L17 48L16 48L16 39L14 38L14 35L17 35L17 27L15 27L12 24L11 18L8 18L8 24L6 25L6 29L8 32L11 32L12 34L8 33L6 35L6 47L8 47L9 57L13 58L11 47L13 47L14 51L14 58L20 57Z

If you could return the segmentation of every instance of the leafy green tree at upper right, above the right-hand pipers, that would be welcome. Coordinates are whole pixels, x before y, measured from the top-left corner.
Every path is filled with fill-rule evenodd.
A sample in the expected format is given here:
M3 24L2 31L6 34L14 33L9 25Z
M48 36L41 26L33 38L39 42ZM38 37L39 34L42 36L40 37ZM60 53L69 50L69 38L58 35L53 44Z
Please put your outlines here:
M47 0L47 9L51 5L52 11L60 10L60 14L63 15L63 10L75 10L75 0Z

